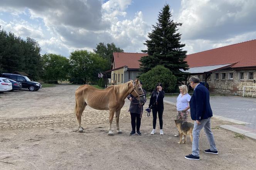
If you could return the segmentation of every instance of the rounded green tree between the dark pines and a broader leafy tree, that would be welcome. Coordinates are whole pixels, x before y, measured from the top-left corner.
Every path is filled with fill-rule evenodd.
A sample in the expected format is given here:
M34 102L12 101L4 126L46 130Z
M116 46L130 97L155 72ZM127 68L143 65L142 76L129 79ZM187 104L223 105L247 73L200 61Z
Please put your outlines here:
M66 80L69 68L69 60L66 57L52 53L42 55L42 78L51 80L49 83Z

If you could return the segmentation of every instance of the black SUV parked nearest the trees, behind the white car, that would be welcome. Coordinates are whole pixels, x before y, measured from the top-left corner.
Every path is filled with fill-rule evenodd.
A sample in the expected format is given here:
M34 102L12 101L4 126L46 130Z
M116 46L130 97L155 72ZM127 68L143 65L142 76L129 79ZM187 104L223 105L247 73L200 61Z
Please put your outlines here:
M22 88L27 88L29 91L37 91L42 88L41 83L32 82L27 76L20 74L2 73L0 77L6 77L11 80L15 80L22 84Z

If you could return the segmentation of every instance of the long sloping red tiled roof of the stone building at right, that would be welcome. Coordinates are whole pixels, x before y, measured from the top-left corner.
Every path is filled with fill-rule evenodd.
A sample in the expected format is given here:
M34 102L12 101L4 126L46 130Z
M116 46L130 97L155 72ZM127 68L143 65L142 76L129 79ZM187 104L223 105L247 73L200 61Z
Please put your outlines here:
M232 67L256 66L256 40L214 48L187 55L189 67L202 67L236 63Z

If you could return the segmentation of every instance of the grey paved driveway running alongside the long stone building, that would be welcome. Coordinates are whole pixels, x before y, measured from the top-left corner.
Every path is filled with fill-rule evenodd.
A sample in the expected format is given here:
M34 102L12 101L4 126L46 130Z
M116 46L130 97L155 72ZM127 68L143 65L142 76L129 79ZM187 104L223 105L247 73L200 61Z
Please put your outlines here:
M164 99L176 103L176 98L165 97ZM210 103L214 115L251 123L245 126L256 130L256 98L214 96L210 97Z

